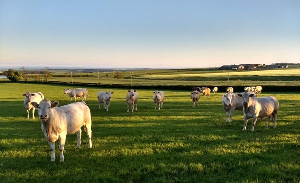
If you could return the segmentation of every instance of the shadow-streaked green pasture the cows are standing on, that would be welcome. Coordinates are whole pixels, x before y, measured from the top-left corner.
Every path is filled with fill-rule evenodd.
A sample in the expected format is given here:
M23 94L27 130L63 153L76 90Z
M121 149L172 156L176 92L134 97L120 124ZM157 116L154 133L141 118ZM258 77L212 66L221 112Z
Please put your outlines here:
M93 148L76 149L68 135L65 162L50 162L50 148L36 117L26 118L22 94L41 91L45 98L69 103L62 85L0 83L1 182L300 182L300 95L264 93L280 103L277 128L259 120L242 131L242 111L226 123L223 92L200 98L190 91L164 90L163 108L154 110L153 90L137 90L137 111L127 113L130 89L88 88ZM112 90L107 112L98 109L97 92ZM157 90L160 90L157 88ZM80 99L78 99L80 100ZM36 116L38 112L35 112Z

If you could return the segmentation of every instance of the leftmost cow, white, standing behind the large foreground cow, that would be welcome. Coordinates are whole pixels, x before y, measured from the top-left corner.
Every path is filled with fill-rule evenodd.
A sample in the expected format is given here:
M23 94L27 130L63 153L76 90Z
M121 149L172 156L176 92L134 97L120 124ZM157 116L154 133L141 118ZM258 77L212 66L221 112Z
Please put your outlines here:
M23 96L25 96L24 99L24 106L25 109L27 111L27 119L29 119L29 111L32 109L32 119L35 119L34 116L34 112L35 112L35 107L31 104L32 102L37 102L39 103L41 100L44 99L44 95L37 91L35 93L30 93L29 91L27 91L25 94L23 94Z

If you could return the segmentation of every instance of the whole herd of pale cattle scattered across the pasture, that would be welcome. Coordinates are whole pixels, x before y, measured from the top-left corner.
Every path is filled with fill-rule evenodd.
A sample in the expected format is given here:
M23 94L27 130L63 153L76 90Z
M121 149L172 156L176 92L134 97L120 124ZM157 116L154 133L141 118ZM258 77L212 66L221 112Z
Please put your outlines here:
M257 98L257 95L261 94L262 87L245 87L243 93L234 93L232 87L226 88L226 93L222 96L223 109L226 112L226 122L232 121L232 116L235 110L243 110L244 115L244 127L246 130L248 119L252 118L252 130L254 131L255 123L258 118L267 118L270 125L270 119L272 117L274 122L274 128L276 128L277 113L279 109L278 100L273 97L261 97ZM208 87L193 87L190 94L190 98L193 102L193 107L198 105L201 94L210 97L210 88ZM213 93L218 92L218 88L214 87ZM41 121L41 129L49 143L51 148L51 161L55 161L55 141L59 139L60 145L60 162L64 161L64 145L67 134L77 134L77 148L81 145L81 127L84 126L84 130L88 136L88 147L92 147L91 142L91 113L89 107L84 101L88 96L88 91L85 88L79 89L64 89L64 94L68 94L71 98L77 101L78 97L82 97L82 102L74 102L68 105L60 106L59 102L51 102L44 98L41 92L26 92L24 106L27 111L27 118L29 119L29 111L32 109L32 118L34 119L35 108L38 109L38 116ZM113 92L100 91L98 92L98 104L101 108L101 102L104 104L104 109L108 111L110 106L110 99ZM127 112L137 110L138 92L134 89L128 90L126 96ZM163 107L164 92L154 91L153 102L155 104L155 110Z

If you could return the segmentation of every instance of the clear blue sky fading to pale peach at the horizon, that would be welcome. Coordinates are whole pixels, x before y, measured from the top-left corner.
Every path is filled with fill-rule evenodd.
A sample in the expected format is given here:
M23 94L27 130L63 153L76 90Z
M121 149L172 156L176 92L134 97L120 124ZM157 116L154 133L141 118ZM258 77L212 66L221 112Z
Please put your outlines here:
M300 63L300 0L0 0L0 66Z

